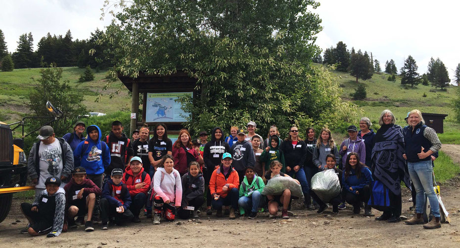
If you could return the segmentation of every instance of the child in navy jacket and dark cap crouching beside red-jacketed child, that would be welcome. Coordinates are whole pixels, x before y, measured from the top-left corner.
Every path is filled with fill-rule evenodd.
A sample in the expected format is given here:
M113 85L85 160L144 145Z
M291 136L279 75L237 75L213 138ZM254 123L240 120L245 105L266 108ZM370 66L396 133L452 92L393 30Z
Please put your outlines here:
M124 225L134 217L129 210L131 196L122 182L123 171L119 168L112 170L112 175L103 187L102 198L100 199L100 215L102 218L102 230L107 230L107 224Z

